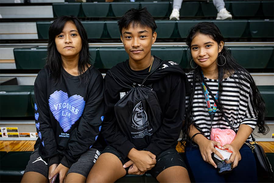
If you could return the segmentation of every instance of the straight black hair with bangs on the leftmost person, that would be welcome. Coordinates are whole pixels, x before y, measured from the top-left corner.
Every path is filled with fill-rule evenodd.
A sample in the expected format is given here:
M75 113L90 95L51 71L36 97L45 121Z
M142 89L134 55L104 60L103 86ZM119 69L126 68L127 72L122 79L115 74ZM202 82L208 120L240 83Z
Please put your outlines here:
M85 68L91 65L91 57L89 52L89 43L86 34L86 30L83 27L80 20L74 16L60 16L58 19L54 20L48 30L48 46L47 46L47 65L48 68L51 70L51 76L58 83L59 79L61 78L62 72L62 59L61 55L58 52L55 44L55 37L60 34L65 26L65 23L68 21L72 21L82 39L82 49L79 53L79 61L78 61L78 74L79 77L81 74L85 72ZM81 77L80 77L81 79ZM85 82L88 78L85 78Z

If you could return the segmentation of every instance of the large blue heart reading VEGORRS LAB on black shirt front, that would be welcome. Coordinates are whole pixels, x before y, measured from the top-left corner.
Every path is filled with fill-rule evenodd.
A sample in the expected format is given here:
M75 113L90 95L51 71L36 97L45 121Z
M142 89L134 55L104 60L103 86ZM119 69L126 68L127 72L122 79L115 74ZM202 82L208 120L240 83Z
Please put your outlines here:
M86 103L82 96L73 95L68 98L68 94L61 90L54 91L48 101L54 118L59 122L64 132L67 132L82 116Z

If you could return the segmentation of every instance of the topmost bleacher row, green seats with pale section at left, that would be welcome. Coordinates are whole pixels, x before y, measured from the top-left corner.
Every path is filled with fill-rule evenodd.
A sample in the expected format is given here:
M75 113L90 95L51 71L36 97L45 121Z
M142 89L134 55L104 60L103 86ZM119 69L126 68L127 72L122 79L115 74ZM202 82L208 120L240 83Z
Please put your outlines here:
M52 3L45 6L45 12L39 14L39 6L30 4L23 6L2 6L0 12L3 18L53 18L62 15L78 17L121 17L128 9L146 7L153 17L168 17L172 11L173 1L136 1L136 2L82 2L82 3ZM274 1L225 1L226 8L233 17L273 17ZM40 6L40 8L43 6ZM100 11L96 11L100 9ZM16 13L15 13L16 12ZM213 2L183 1L181 17L216 17L217 10Z

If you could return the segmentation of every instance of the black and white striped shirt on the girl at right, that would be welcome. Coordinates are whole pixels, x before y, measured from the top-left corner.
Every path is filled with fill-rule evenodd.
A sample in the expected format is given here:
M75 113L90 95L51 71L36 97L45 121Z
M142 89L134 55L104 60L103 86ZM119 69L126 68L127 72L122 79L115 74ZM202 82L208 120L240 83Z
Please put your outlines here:
M193 72L187 73L187 76L188 81L192 84ZM218 91L218 80L205 77L205 81L213 95L216 96ZM236 75L235 73L222 81L223 91L221 96L219 96L218 101L221 100L224 113L236 131L238 131L239 125L241 124L246 124L253 130L257 124L258 117L251 105L252 91L250 89L250 82L251 81L248 81L243 75ZM186 96L186 109L188 106L188 99L189 96ZM214 100L211 95L209 95L209 99L211 107L213 107ZM200 128L207 138L210 138L209 131L211 128L211 119L200 83L195 83L192 115L195 126ZM230 128L218 108L213 119L212 127L220 129ZM248 138L248 141L251 141L251 136Z

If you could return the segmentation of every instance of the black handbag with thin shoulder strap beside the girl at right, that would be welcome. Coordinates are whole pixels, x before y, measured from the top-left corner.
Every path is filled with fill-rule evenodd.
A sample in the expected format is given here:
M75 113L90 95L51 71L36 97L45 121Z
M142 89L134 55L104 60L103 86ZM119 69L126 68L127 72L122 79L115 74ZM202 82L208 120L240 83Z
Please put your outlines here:
M207 86L206 82L204 81L206 87L208 88L209 94L211 95L211 97L213 98L214 102L217 104L218 106L218 102L216 101L214 95L212 94L212 92L210 91L209 87ZM235 131L234 127L231 125L230 121L227 119L227 116L224 115L225 120L227 121L227 123L229 124L230 128ZM250 144L248 142L244 142L246 145L248 145L251 149L251 151L253 152L254 156L255 156L255 160L256 160L256 166L257 166L257 174L258 177L263 177L263 178L268 178L264 179L263 182L273 182L273 168L265 154L264 149L262 148L261 145L259 145L255 138L253 137L253 135L251 134L251 138L252 141L254 142L253 144Z

